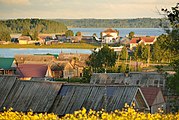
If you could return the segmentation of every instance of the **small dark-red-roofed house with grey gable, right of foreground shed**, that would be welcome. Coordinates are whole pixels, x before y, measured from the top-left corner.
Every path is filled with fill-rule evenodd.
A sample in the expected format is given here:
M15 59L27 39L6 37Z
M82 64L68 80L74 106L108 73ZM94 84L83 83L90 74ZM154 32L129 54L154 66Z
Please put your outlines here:
M150 113L156 113L159 109L166 110L166 104L161 88L141 87L141 91L150 107Z

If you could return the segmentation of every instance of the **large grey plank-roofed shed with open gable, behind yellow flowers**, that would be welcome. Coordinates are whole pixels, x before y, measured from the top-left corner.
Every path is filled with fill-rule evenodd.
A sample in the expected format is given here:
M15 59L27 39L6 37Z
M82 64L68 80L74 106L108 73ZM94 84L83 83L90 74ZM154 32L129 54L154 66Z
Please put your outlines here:
M65 115L82 107L87 110L105 109L111 112L124 108L125 103L131 105L133 102L138 110L149 110L143 94L136 86L65 84L50 112Z

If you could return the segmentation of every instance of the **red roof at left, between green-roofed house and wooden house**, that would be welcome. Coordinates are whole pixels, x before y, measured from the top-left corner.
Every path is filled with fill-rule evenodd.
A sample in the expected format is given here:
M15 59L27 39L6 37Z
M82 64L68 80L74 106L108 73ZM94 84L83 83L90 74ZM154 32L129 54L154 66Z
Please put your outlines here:
M45 77L47 65L44 64L20 64L17 72L20 77Z

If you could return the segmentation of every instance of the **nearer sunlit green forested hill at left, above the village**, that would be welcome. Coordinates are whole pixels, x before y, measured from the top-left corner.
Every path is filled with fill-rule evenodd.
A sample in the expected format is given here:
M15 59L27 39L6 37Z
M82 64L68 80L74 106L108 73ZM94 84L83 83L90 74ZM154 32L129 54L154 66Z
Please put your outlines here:
M61 22L45 19L0 20L0 32L22 33L24 29L39 33L62 33L67 31L67 26Z

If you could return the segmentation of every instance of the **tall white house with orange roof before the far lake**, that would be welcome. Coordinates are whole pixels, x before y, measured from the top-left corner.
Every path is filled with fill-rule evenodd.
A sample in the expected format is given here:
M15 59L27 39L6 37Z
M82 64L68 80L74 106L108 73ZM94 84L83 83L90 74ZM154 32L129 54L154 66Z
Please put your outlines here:
M111 28L101 32L101 37L102 37L102 43L105 44L114 44L114 43L119 43L119 36L118 36L118 31L113 30Z

